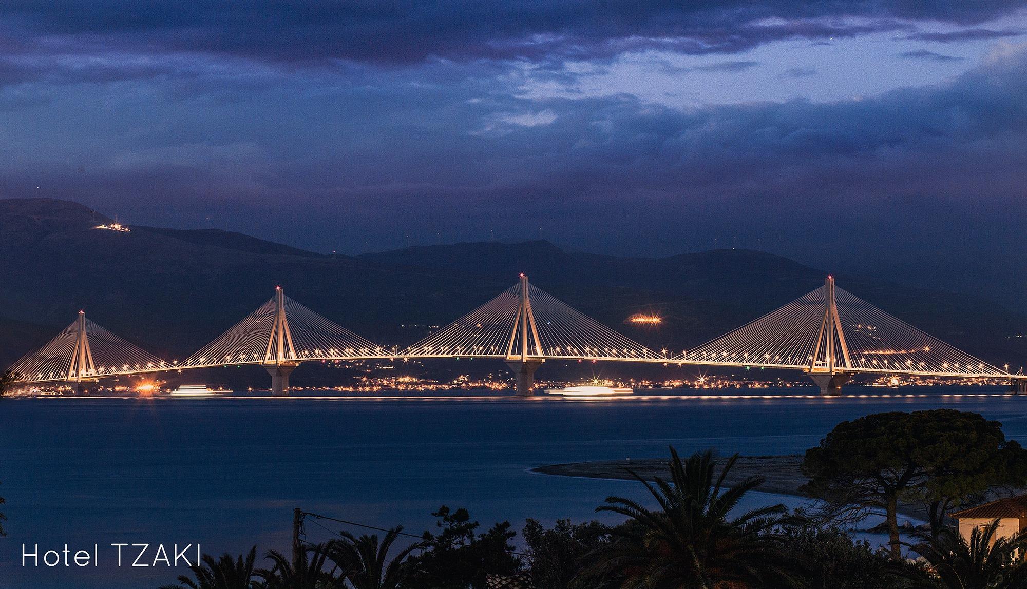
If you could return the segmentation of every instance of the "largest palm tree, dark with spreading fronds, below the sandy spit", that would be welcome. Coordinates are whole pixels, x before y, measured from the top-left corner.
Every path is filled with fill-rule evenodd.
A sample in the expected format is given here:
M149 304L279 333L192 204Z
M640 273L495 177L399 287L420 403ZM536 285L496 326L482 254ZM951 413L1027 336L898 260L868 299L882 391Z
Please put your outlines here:
M597 511L627 516L614 529L615 540L592 557L578 582L600 587L648 589L728 589L788 587L794 582L783 568L788 560L772 528L786 513L784 505L731 512L763 479L749 477L724 488L737 461L729 458L714 480L713 453L696 453L684 464L671 447L671 480L650 484L629 470L659 505L652 511L631 499L608 497Z

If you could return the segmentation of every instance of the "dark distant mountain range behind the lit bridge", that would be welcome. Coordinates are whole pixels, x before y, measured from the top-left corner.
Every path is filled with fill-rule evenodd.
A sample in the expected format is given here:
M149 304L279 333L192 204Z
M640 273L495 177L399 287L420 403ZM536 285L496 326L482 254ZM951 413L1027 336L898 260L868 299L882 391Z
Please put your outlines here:
M220 230L94 229L74 202L0 200L0 364L45 343L84 309L167 358L183 358L268 300L293 299L398 345L488 301L525 272L536 286L651 347L680 350L816 288L823 270L760 251L670 258L569 251L547 241L458 243L326 256ZM838 276L839 286L995 362L1027 358L1027 316L974 297ZM624 322L656 312L656 329Z

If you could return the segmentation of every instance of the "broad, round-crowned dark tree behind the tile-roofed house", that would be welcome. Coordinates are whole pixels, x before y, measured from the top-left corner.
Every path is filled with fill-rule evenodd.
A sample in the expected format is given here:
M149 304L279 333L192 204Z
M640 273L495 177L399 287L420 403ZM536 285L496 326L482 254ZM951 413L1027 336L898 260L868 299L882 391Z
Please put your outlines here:
M1018 483L1027 450L1002 425L955 409L875 414L842 422L806 450L803 490L826 501L826 517L861 519L883 509L893 557L901 556L900 502L928 506L938 529L944 511L992 485Z

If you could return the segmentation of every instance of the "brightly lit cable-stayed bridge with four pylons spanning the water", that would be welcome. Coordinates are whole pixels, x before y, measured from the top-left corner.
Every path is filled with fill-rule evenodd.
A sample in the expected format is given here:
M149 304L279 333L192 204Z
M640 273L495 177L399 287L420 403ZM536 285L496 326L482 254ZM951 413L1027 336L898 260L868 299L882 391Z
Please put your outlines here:
M825 394L838 394L853 375L1002 378L1011 375L933 338L835 286L825 285L693 350L650 350L520 281L495 299L404 349L385 348L286 297L274 297L182 362L157 358L88 321L84 313L38 351L14 363L15 382L96 382L104 377L169 369L257 364L286 394L290 374L304 361L396 358L495 358L517 376L518 394L531 394L546 360L602 360L710 366L751 366L806 372Z

